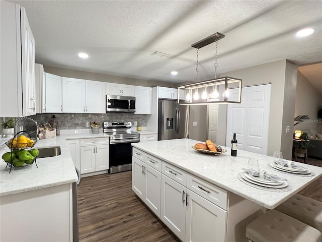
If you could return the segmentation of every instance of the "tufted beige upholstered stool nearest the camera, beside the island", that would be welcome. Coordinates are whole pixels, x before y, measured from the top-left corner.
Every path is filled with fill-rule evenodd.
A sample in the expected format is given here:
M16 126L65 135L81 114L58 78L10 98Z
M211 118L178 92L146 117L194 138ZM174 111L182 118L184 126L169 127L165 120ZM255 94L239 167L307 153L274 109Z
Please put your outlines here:
M321 236L317 229L276 210L267 211L246 228L246 237L253 242L320 242Z

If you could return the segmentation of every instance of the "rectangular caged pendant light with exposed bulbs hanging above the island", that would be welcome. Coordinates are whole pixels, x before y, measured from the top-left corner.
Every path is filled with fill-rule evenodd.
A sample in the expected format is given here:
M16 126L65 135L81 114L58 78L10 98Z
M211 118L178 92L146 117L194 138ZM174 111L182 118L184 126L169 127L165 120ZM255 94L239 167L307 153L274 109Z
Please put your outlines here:
M184 90L187 93L186 100L179 99L178 103L183 105L203 105L209 103L240 103L241 101L241 79L231 78L231 77L222 77L217 78L217 49L218 41L225 36L220 33L214 33L213 35L200 40L199 42L191 45L197 49L197 67L196 67L196 82L189 85L184 85L178 87L178 93L181 90ZM215 52L215 79L198 82L198 64L199 64L199 49L215 42L216 43L216 52ZM201 94L201 100L199 100L198 89L203 90ZM233 99L229 98L229 90L236 89L238 90L238 96L233 95ZM208 95L211 93L212 95ZM191 95L193 94L193 98ZM229 98L229 99L228 99Z

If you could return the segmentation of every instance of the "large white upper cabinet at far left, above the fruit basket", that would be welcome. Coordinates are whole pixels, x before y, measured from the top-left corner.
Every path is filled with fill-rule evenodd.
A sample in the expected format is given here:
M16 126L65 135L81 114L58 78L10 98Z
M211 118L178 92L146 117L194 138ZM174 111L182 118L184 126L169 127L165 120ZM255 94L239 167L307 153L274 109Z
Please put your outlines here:
M0 116L36 113L35 39L25 8L0 1Z

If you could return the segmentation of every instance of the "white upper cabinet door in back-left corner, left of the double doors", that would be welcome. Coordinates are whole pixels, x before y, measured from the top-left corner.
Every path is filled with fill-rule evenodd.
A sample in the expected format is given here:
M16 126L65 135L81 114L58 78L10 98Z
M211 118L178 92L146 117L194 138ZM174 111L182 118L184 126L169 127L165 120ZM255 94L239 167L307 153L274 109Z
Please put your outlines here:
M61 77L45 74L45 111L62 112Z

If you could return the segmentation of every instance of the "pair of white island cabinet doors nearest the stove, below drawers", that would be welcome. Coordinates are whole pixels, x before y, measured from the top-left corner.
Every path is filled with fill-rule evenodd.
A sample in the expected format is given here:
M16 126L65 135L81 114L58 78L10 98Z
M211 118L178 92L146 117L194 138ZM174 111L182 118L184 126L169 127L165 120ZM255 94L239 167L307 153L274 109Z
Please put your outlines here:
M161 172L132 157L132 190L160 217Z

